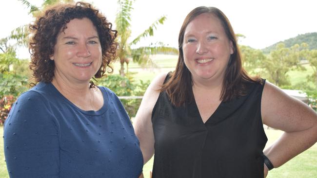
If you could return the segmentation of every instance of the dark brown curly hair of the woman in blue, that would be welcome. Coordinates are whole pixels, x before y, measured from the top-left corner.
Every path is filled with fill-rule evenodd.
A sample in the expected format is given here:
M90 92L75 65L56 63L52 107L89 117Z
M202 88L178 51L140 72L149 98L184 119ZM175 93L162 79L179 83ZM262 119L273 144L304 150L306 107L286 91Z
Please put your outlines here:
M29 30L33 35L29 41L29 52L31 54L29 67L33 71L33 78L35 79L35 83L31 83L31 85L34 86L38 82L49 83L52 81L55 63L53 60L49 60L49 57L54 53L57 36L67 28L66 24L74 18L89 18L97 29L102 60L99 71L97 71L93 79L96 80L96 78L106 76L106 72L113 72L110 63L117 57L118 44L115 42L115 38L118 32L112 29L112 23L89 3L59 4L46 9L29 26ZM91 80L90 88L94 86L95 84Z

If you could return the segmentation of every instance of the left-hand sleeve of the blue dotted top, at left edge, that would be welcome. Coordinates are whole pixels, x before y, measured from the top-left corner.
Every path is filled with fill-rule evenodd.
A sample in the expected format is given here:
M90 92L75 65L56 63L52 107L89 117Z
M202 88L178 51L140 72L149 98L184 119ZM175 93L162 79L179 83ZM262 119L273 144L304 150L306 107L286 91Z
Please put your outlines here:
M58 178L59 133L54 115L35 91L23 93L4 124L10 178Z

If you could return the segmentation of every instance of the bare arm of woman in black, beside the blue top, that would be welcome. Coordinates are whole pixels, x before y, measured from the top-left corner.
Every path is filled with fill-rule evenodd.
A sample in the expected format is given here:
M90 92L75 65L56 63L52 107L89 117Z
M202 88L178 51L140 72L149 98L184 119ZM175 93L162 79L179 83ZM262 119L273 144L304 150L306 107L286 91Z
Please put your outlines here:
M161 89L165 77L166 73L159 75L146 89L135 122L133 123L136 135L140 141L144 164L150 160L154 154L154 134L151 116L153 107L158 100L159 89Z

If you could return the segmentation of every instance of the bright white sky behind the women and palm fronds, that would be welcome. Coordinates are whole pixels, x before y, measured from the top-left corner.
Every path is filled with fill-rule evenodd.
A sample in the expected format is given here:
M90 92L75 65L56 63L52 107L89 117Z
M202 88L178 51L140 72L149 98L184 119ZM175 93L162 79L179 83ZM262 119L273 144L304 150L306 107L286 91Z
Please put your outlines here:
M2 1L2 2L1 2ZM18 0L0 0L0 38L33 21L28 9ZM41 5L42 0L29 0ZM117 0L86 0L114 24ZM136 0L131 14L130 40L146 30L155 20L165 15L164 25L158 25L155 36L139 45L163 42L178 47L178 33L186 15L198 6L214 6L230 20L236 34L246 36L239 44L263 49L276 42L300 34L317 32L316 0ZM114 25L115 26L115 25ZM19 49L19 58L28 58L28 50Z

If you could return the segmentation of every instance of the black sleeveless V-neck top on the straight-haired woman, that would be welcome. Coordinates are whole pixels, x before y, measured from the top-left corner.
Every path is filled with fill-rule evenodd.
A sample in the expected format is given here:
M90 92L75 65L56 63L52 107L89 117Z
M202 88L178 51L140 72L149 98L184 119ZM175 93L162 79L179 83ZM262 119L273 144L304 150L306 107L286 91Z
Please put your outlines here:
M247 95L221 102L205 124L195 101L175 107L161 92L152 112L152 178L263 178L264 83L250 83Z

